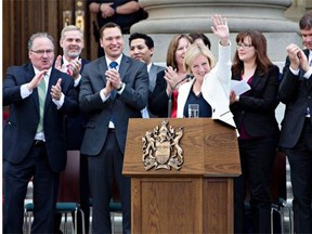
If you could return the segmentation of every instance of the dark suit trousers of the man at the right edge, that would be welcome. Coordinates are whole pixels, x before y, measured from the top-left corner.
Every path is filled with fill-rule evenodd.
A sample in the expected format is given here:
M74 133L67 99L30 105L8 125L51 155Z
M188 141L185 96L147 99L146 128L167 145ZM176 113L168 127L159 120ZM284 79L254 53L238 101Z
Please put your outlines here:
M312 233L312 123L306 118L295 147L286 151L294 193L292 209L296 233Z

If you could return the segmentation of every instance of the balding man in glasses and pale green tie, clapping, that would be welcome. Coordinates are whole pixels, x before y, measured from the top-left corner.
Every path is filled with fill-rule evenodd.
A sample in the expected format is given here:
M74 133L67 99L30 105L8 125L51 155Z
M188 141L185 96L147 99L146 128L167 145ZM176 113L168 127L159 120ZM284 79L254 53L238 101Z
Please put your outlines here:
M30 62L9 67L3 105L4 233L22 233L27 184L34 183L31 233L52 233L60 171L66 166L63 117L78 112L73 78L52 67L53 39L38 32L28 41Z

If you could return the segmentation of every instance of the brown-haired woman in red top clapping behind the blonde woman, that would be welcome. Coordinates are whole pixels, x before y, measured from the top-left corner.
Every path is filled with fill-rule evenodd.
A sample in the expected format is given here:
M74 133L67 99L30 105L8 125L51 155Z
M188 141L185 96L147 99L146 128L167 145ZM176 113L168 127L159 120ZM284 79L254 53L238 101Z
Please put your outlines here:
M192 42L192 38L187 35L176 35L171 39L167 51L167 68L157 74L156 86L148 101L152 114L159 117L168 117L168 101L172 95L170 117L177 117L179 90L177 84L182 84L181 80L187 75L183 67L183 60L186 49Z

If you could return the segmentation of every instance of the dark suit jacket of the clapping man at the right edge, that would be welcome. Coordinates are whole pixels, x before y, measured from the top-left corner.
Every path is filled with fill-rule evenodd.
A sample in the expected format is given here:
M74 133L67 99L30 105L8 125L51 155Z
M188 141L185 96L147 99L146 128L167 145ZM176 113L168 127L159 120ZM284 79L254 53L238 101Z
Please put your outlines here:
M304 53L309 56L308 50L304 50ZM301 68L299 76L295 76L289 70L289 65L290 62L287 57L278 91L281 101L286 105L280 145L286 148L296 145L303 128L307 107L310 106L310 110L312 109L312 76L309 80L306 79Z

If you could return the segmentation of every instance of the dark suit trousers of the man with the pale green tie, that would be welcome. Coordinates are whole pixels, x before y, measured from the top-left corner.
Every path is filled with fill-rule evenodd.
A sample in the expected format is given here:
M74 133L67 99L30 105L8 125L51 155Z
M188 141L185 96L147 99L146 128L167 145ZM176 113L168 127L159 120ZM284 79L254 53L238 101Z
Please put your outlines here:
M53 172L44 145L32 145L21 164L3 162L3 233L23 233L24 200L28 182L34 183L34 223L31 233L53 233L58 172Z

